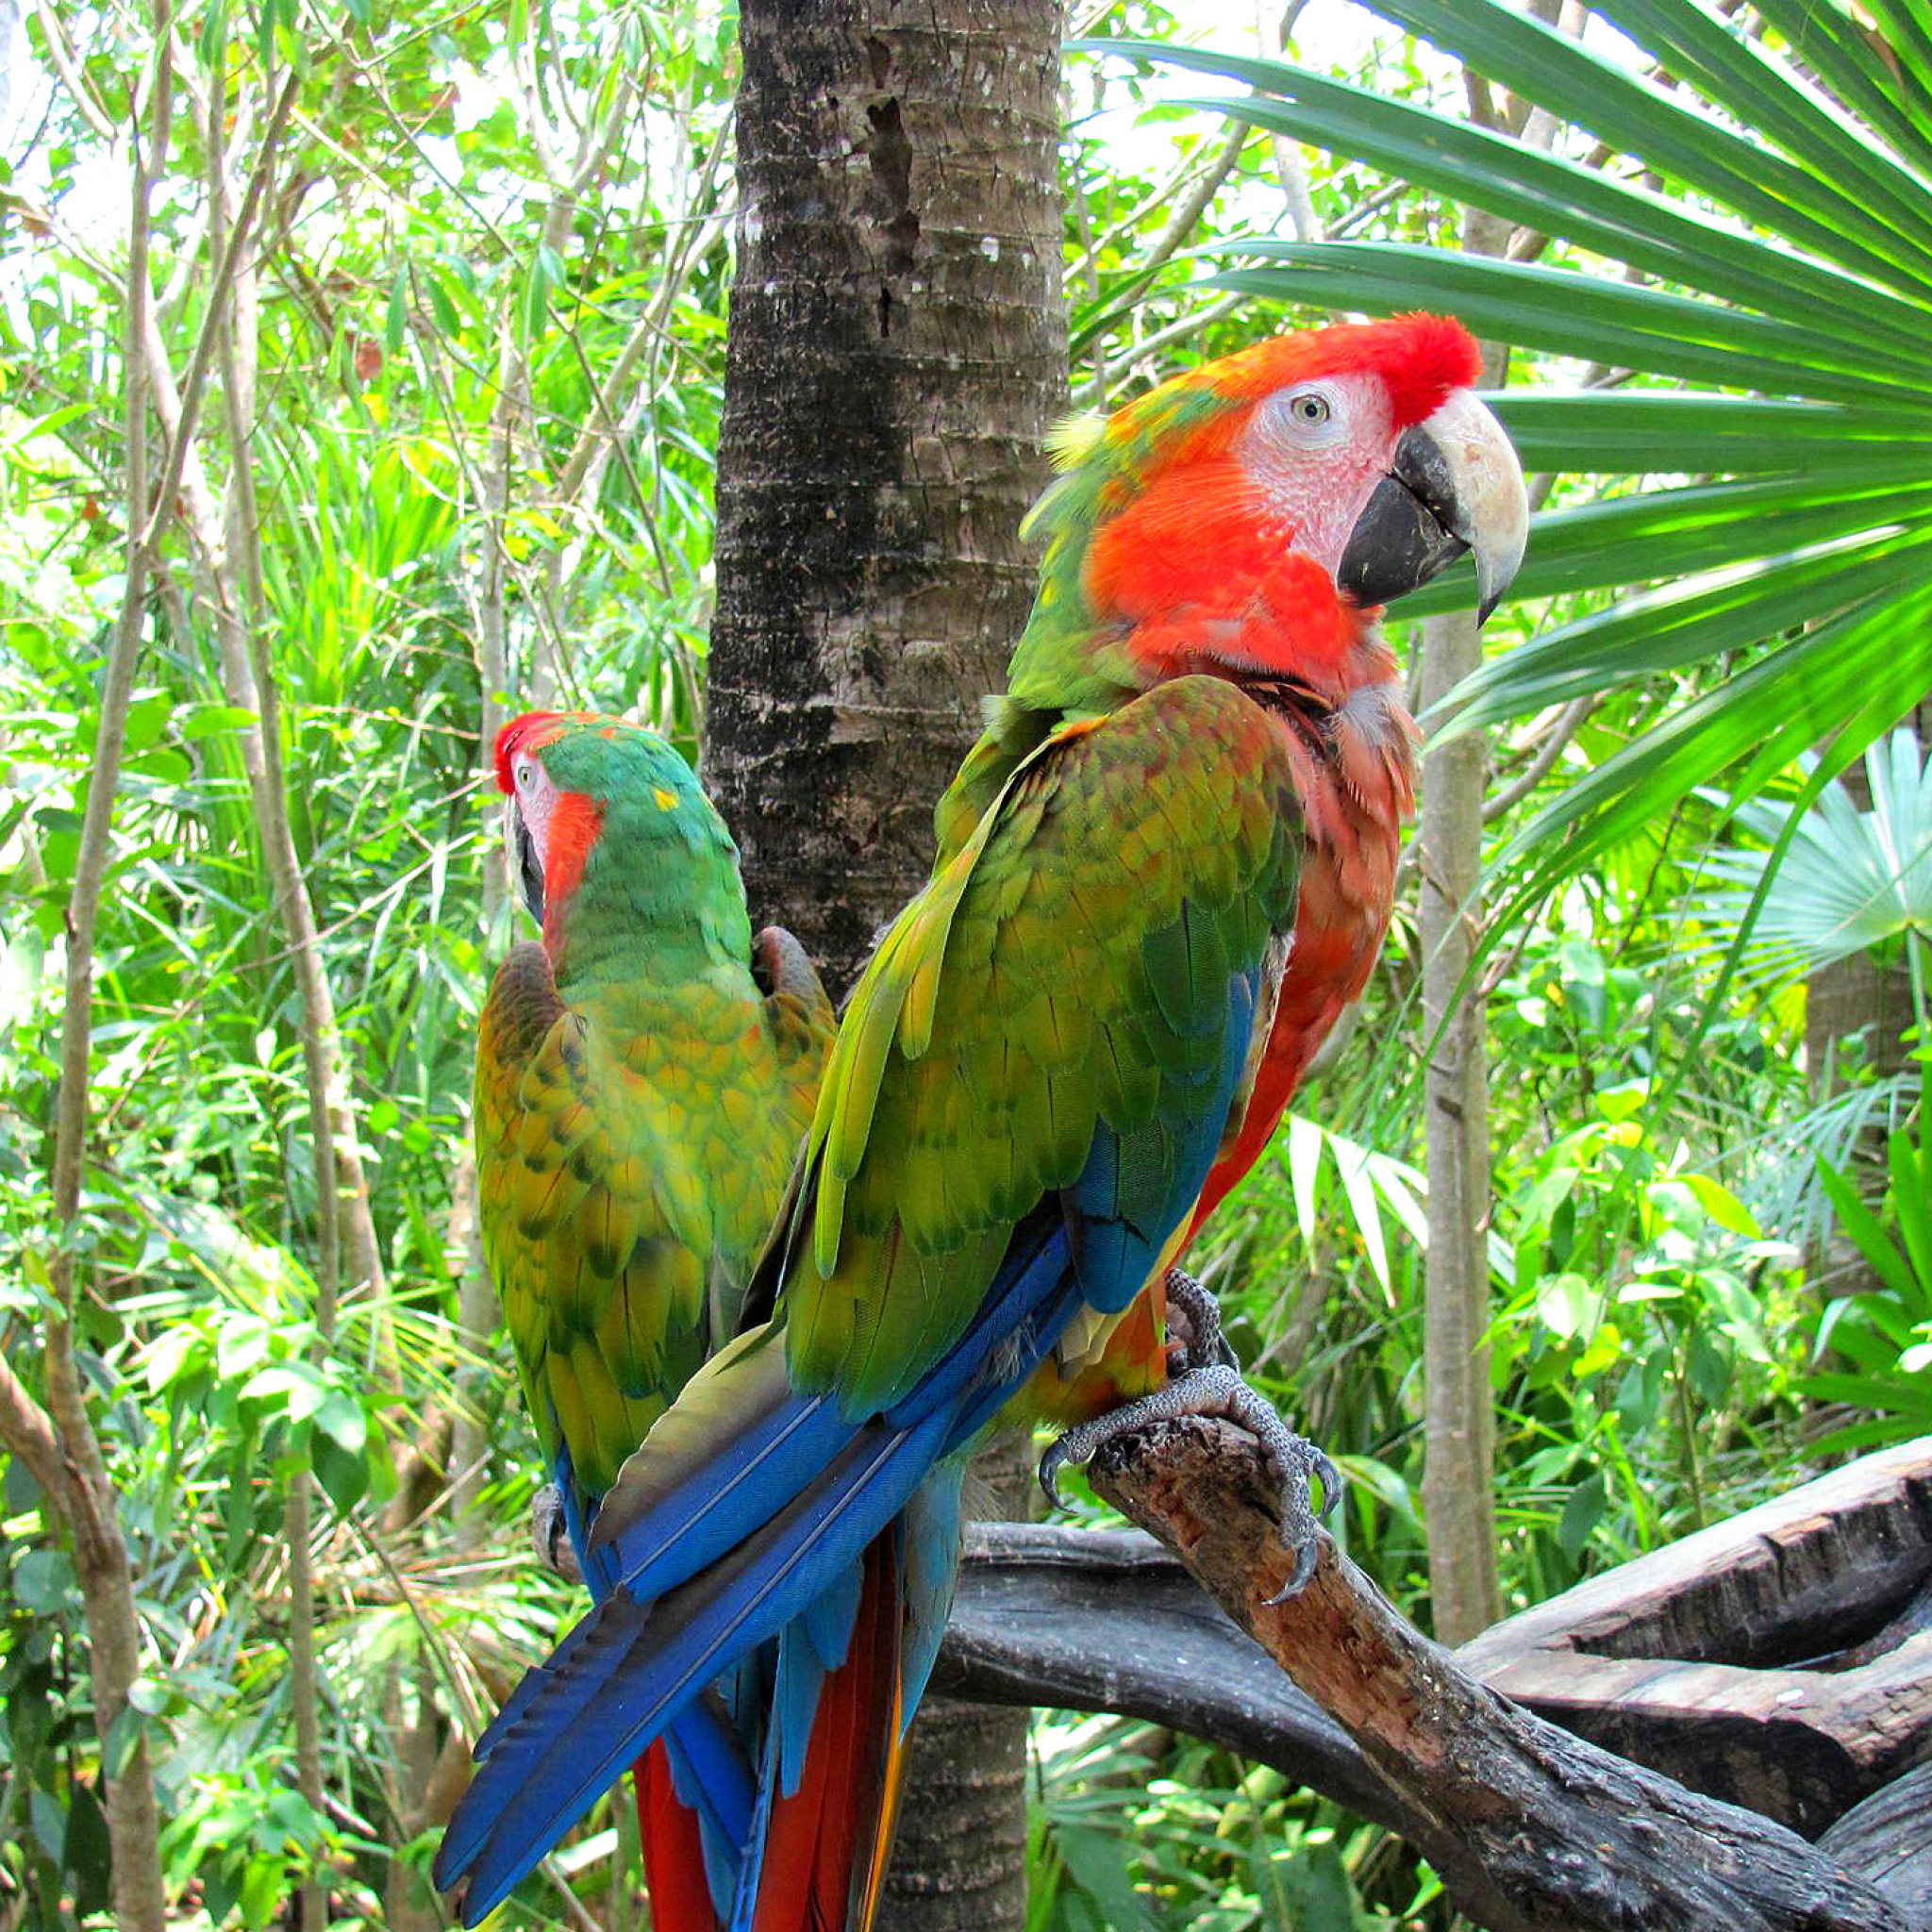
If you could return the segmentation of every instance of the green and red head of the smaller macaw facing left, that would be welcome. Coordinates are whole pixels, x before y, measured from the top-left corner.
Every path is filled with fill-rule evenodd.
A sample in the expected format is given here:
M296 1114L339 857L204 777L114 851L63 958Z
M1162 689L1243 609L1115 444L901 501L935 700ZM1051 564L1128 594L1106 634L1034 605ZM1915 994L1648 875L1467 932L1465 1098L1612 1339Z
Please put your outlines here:
M504 844L518 891L549 943L607 827L622 846L628 896L653 883L696 891L723 869L736 885L736 848L697 777L657 732L593 711L526 711L497 732ZM653 848L667 846L653 864ZM742 908L742 900L740 900Z

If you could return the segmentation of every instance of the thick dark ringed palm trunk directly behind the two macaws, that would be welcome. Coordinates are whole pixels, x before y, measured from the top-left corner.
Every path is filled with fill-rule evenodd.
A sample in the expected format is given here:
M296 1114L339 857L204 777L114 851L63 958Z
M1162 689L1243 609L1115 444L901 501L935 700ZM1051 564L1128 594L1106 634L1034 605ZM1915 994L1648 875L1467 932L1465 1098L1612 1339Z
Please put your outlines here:
M1057 0L748 0L707 777L846 987L1026 622L1066 392ZM1020 1926L1024 1714L933 1710L883 1922Z

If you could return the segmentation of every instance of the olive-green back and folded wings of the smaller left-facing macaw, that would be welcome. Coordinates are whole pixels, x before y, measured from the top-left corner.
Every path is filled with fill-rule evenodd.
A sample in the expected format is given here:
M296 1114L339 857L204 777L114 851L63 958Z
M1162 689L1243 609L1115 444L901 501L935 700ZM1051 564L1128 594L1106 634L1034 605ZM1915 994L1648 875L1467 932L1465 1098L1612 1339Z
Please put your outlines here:
M562 1447L585 1497L730 1333L829 1034L815 974L761 993L713 964L570 1003L541 947L497 974L475 1086L483 1252L545 1461Z

